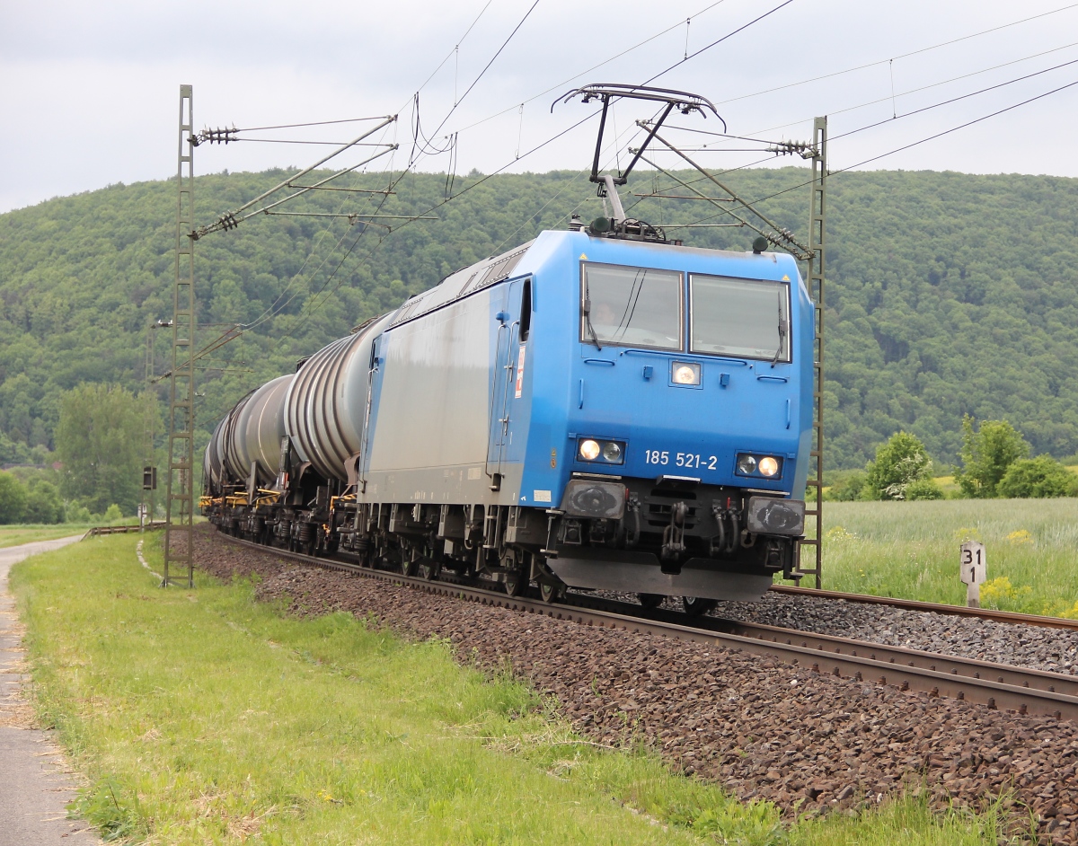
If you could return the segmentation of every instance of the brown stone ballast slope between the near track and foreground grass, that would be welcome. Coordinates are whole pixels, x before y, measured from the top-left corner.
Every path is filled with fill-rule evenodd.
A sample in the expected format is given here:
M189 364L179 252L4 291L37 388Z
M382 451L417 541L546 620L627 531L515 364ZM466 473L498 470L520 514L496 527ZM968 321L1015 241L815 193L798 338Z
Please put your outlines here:
M591 739L642 737L683 772L714 779L743 800L774 802L788 817L863 807L903 787L926 790L941 808L952 802L979 808L1012 790L1039 819L1046 842L1078 843L1078 724L307 567L230 544L209 528L196 536L202 569L223 579L259 573L261 599L284 600L295 613L373 614L412 637L448 638L462 657L493 670L509 662L554 695ZM769 597L750 610L768 606L770 619L743 619L805 625L805 612L792 607L799 602ZM869 610L857 613L871 625ZM958 622L967 621L946 624ZM834 623L820 616L817 625ZM907 636L896 623L887 627L896 638ZM834 634L862 637L852 626Z

